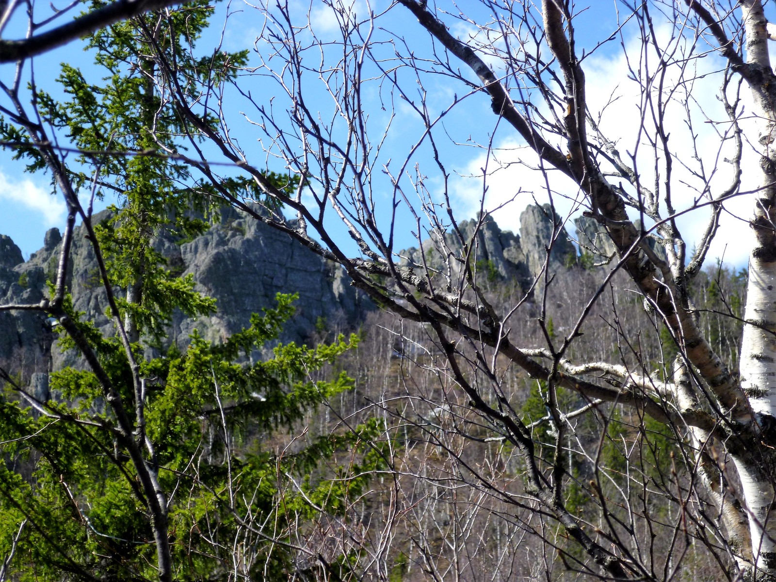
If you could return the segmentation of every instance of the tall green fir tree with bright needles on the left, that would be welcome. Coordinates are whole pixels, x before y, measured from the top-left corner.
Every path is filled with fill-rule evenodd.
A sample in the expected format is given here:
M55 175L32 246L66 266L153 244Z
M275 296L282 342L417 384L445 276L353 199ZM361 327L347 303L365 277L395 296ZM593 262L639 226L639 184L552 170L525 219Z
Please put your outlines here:
M335 578L346 573L297 546L292 534L321 511L344 511L365 475L383 464L381 449L370 444L378 424L296 439L293 454L283 456L261 442L278 429L293 430L311 409L352 387L345 374L316 381L310 374L352 348L355 337L317 348L279 345L272 359L254 362L251 354L275 340L293 314L293 296L278 296L277 307L223 344L194 334L184 352L143 356L143 344L158 345L174 310L194 317L216 307L154 250L161 234L183 241L203 232L208 209L195 206L206 189L165 156L180 150L185 127L158 92L158 76L168 71L147 58L153 51L144 40L151 38L154 50L178 64L175 83L222 85L245 54L194 56L211 12L197 2L104 29L88 43L106 71L102 82L63 65L68 101L37 95L50 126L66 131L82 151L100 154L65 165L55 151L40 147L43 127L29 123L21 107L6 113L0 126L4 139L29 144L19 155L29 158L30 170L51 171L68 201L64 261L40 308L59 321L62 347L80 352L87 363L51 375L50 386L63 400L40 403L40 416L21 406L15 393L24 387L5 374L2 579L279 580L310 564ZM268 178L279 188L298 183L271 173ZM224 187L254 192L237 180ZM90 188L96 196L117 195L105 223L92 224L90 210L74 196ZM116 326L110 337L75 313L64 293L77 214L109 299ZM353 474L359 476L348 477L333 460L322 473L322 463L341 450L348 451L351 469L358 461Z

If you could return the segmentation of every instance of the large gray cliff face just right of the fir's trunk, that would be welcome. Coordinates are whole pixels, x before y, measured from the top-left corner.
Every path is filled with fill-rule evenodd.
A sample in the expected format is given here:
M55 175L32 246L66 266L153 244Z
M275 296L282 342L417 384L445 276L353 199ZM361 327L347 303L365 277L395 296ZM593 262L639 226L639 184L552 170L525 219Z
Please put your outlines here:
M328 329L344 328L371 308L365 296L344 282L338 265L236 210L222 210L220 224L191 242L165 244L164 254L172 255L185 268L183 274L194 275L199 289L217 300L217 313L210 317L175 318L171 335L179 348L195 328L210 341L240 331L251 314L275 304L276 293L300 295L284 341L304 341L324 320Z

